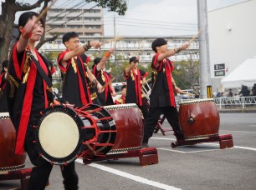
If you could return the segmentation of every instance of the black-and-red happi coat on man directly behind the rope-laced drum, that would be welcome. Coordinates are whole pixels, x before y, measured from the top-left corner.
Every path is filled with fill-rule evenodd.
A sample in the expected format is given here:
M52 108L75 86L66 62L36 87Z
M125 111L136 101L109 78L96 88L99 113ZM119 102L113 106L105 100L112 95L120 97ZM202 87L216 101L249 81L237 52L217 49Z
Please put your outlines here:
M88 84L90 82L87 76L87 62L90 57L86 55L72 57L67 67L63 67L61 59L64 57L68 50L61 52L58 57L59 68L62 72L64 85L63 85L63 100L74 104L75 107L80 107L88 103L92 103L90 98L90 91Z

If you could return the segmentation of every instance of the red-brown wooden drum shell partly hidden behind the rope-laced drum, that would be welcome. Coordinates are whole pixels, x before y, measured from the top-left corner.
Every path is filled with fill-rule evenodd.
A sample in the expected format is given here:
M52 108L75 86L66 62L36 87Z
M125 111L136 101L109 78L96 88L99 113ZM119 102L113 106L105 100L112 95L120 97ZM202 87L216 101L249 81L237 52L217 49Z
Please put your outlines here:
M143 122L138 107L109 110L117 130L115 146L111 148L138 148L143 138Z

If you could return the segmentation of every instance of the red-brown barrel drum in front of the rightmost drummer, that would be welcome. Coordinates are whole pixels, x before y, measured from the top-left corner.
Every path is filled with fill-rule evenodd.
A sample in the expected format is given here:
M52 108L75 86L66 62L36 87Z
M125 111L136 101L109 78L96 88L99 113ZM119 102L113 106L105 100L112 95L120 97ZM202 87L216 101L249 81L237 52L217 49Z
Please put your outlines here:
M179 120L186 140L218 136L219 114L213 99L181 102Z

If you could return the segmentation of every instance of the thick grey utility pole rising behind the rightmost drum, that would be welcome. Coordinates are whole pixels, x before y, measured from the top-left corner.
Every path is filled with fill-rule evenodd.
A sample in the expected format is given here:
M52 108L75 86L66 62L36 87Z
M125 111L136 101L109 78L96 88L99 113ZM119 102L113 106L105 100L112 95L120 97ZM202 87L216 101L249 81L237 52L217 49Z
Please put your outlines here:
M200 97L207 98L207 86L212 86L210 72L209 37L207 24L207 0L197 0L199 35Z

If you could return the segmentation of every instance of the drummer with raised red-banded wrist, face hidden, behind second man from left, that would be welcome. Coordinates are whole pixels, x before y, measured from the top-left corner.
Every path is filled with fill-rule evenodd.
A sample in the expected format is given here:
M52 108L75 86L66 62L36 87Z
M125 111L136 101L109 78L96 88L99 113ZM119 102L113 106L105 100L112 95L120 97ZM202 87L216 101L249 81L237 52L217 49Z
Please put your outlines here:
M102 86L105 86L107 82L110 82L112 75L109 72L105 72L105 62L110 58L111 53L114 52L114 49L111 48L108 52L105 52L102 58L96 57L94 64L92 66L92 73L95 75L97 80L100 82ZM105 91L98 93L98 97L100 99L102 106L113 105L113 98L115 97L115 88L110 82L109 85L105 87Z

